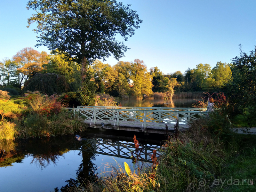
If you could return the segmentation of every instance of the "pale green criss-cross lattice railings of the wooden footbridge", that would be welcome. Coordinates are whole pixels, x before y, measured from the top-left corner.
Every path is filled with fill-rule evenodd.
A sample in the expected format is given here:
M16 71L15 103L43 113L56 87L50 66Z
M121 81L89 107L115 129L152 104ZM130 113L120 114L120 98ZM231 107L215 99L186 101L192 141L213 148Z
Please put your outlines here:
M159 123L172 123L174 124L176 118L179 119L180 124L188 124L191 119L197 119L200 116L207 115L201 108L106 108L98 106L79 106L78 108L66 108L74 110L81 116L84 116L85 121L90 121L93 124L111 124L111 126L127 126L127 125L140 125L141 128L146 126L159 126ZM198 111L196 111L197 109ZM204 109L203 109L204 110Z

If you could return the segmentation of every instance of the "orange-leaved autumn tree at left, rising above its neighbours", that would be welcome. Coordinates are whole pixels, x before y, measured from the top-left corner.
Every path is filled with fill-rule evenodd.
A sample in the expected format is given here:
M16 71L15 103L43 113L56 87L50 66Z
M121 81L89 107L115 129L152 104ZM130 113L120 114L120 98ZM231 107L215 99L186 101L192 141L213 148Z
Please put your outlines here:
M28 80L36 73L42 71L42 65L48 63L47 56L46 52L42 51L40 53L31 47L23 48L13 56L13 61L18 67L19 88L21 88L23 80Z

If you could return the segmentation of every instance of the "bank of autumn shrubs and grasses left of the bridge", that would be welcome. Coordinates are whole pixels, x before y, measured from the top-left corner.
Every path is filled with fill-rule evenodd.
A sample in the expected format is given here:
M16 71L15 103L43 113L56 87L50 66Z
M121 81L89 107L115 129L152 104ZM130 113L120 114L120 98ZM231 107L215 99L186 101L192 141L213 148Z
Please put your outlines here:
M0 99L0 140L41 138L74 134L87 130L83 119L63 109L56 95L29 92L9 100L6 92Z

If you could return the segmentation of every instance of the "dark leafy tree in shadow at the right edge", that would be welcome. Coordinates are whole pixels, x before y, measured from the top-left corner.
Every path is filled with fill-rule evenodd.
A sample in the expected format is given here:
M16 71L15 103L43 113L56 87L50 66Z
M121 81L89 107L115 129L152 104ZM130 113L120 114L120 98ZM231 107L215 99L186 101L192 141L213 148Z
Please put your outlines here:
M250 54L240 46L240 55L232 60L231 102L234 108L248 112L248 124L256 123L256 46Z

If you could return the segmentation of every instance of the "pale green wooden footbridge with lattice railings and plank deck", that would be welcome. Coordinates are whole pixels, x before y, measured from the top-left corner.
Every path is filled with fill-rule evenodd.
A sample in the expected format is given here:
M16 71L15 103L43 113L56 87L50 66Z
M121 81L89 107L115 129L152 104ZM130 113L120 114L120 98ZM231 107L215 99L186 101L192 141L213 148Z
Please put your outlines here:
M66 108L84 117L89 127L148 133L172 132L176 118L180 129L188 128L192 119L207 115L206 108L148 108L77 106Z

